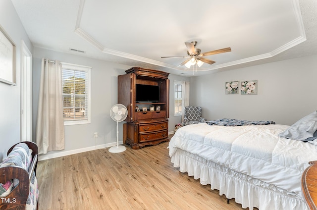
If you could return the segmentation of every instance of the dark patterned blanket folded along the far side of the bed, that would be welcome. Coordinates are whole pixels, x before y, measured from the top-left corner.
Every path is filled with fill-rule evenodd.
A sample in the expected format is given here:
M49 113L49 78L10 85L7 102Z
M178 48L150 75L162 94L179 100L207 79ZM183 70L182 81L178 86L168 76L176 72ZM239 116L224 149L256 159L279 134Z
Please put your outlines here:
M273 121L251 121L251 120L239 120L239 119L217 119L206 122L209 125L223 125L223 126L241 126L241 125L268 125L275 124Z

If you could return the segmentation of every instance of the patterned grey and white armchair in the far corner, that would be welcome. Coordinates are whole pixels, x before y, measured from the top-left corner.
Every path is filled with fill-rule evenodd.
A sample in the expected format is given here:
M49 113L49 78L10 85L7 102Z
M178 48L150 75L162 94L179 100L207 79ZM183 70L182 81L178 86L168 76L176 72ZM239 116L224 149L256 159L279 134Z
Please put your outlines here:
M182 126L206 122L202 117L202 107L200 106L186 106L184 110L184 120Z

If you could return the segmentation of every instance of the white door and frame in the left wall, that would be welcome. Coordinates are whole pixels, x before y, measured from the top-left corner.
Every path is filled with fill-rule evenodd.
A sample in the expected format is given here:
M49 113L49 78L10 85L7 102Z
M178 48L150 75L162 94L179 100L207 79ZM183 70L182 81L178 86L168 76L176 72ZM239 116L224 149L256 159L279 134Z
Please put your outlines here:
M21 43L21 141L32 141L32 53Z

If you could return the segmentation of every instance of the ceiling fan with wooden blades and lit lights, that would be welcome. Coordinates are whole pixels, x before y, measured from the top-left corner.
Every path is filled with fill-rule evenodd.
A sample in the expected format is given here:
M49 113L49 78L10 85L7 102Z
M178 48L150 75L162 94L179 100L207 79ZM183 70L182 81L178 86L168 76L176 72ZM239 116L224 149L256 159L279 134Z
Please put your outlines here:
M210 52L202 52L201 49L196 48L197 41L193 42L185 42L186 48L187 48L187 54L188 56L163 56L161 58L167 58L167 57L185 57L188 58L178 66L185 65L187 68L190 68L190 66L197 64L199 67L201 67L204 63L213 64L215 61L205 58L204 56L208 56L211 54L218 54L223 52L231 52L231 48L223 48L215 51Z

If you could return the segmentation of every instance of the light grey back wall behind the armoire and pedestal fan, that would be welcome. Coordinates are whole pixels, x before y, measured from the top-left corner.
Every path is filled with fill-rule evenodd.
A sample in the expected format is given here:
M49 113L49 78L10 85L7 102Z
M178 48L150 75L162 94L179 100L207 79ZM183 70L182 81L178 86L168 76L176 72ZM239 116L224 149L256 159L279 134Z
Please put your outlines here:
M78 55L54 52L41 48L34 48L33 54L33 120L35 136L35 127L37 121L37 108L39 99L39 84L41 74L41 59L46 57L50 60L60 60L66 63L73 63L85 66L91 66L91 105L92 115L90 124L67 125L65 126L65 150L52 151L48 153L49 157L58 157L85 150L99 148L99 146L115 144L116 127L115 122L110 118L109 111L112 105L117 104L117 76L125 74L125 70L131 66L125 66L116 63L110 63L102 60L86 58ZM183 80L189 78L170 75L170 89L173 90L174 80ZM170 103L174 103L174 94L170 93ZM172 107L171 107L172 108ZM173 112L169 118L170 129L173 131L173 123L179 123L180 118L174 117ZM119 123L119 141L122 141L122 124ZM93 137L94 132L99 133L99 138ZM46 157L43 157L46 158Z

